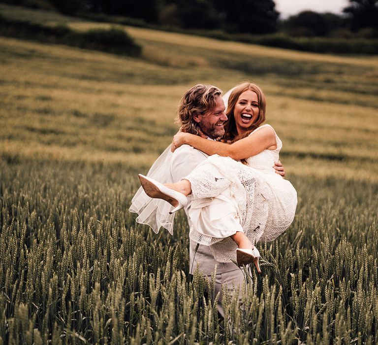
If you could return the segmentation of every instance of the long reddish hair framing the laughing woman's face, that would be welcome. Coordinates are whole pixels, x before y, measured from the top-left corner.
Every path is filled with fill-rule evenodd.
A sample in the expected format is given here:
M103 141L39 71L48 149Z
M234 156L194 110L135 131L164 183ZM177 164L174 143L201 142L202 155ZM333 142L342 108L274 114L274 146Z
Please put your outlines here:
M258 111L258 116L257 116L256 121L253 122L252 126L248 129L248 131L239 135L236 129L234 109L235 109L236 103L238 102L239 96L247 90L251 90L256 93L259 111ZM265 95L256 84L253 84L250 82L244 82L236 86L232 90L231 95L228 98L228 105L227 105L227 112L226 112L228 120L225 126L225 135L223 137L224 141L235 142L237 140L247 137L252 131L254 131L258 126L260 126L265 121L265 111L266 111Z

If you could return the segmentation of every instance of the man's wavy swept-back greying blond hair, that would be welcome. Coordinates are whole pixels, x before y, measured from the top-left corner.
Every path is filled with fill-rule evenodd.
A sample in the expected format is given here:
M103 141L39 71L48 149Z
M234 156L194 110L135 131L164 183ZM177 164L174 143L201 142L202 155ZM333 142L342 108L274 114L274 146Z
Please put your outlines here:
M216 86L197 84L188 90L181 99L177 109L176 122L181 125L181 132L200 135L202 132L193 115L205 114L216 106L216 98L222 92Z

